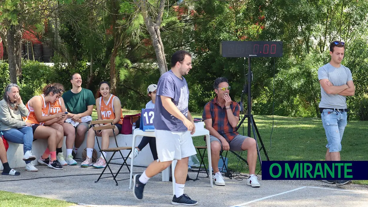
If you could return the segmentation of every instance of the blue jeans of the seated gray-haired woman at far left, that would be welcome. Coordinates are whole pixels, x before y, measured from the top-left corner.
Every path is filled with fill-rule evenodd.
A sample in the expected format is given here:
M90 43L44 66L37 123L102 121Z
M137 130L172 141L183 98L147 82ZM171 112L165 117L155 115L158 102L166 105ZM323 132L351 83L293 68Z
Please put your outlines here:
M26 151L32 150L32 142L33 142L33 131L32 127L26 126L17 129L8 129L5 131L1 131L4 136L4 139L9 142L23 144L23 153ZM28 164L31 161L26 161Z

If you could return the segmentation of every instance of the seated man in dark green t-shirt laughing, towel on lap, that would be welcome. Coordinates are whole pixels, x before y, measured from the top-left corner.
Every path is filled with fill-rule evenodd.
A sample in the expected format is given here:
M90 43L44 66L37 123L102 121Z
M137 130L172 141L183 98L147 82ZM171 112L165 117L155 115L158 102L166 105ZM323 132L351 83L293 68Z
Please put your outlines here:
M92 121L92 110L95 105L95 97L91 90L82 88L82 77L75 73L71 76L72 89L63 93L65 107L68 111L68 119L63 124L66 138L67 157L65 161L69 165L76 165L73 159L81 146L84 135ZM74 145L74 148L73 148Z

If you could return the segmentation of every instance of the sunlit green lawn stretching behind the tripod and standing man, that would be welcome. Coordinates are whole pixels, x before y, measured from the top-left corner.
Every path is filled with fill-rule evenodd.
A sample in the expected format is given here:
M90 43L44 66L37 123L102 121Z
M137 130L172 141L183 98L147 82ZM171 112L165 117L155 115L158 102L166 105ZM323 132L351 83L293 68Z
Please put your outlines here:
M136 114L139 111L124 110L123 114ZM93 115L96 116L94 112ZM202 114L192 113L193 117L202 117ZM96 116L97 117L97 116ZM274 117L274 126L270 145L270 134L272 130L272 116L254 116L261 139L268 153L270 160L325 160L326 154L326 134L319 118L293 118ZM243 127L238 130L241 134L247 135L247 119ZM253 135L252 135L253 137ZM342 140L341 160L360 161L368 160L368 122L350 121L348 122ZM193 139L195 146L204 146L203 137ZM259 148L261 143L258 140ZM271 147L270 147L271 146ZM261 150L261 149L260 149ZM198 156L199 157L199 156ZM237 169L238 158L229 153L229 168ZM247 157L246 152L242 154ZM265 153L261 151L262 161L266 160ZM240 169L240 168L238 168ZM257 163L256 173L260 170ZM243 173L248 173L247 166L243 166ZM260 173L261 174L261 173ZM368 181L353 181L357 184L368 185Z

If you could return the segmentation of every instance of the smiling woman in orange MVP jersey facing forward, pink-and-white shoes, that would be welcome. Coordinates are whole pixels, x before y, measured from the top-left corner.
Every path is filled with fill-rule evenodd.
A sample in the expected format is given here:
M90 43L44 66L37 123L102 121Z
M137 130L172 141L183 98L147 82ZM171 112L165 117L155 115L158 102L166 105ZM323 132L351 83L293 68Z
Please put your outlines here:
M115 129L104 129L100 132L100 136L102 136L102 144L101 149L109 148L109 137L118 135L121 132L122 128L122 120L123 120L123 112L121 111L121 103L118 97L110 94L110 83L106 81L100 82L99 86L99 95L96 99L96 110L98 115L98 120L104 119L114 119L113 125L115 125ZM110 124L107 124L110 125ZM95 125L96 126L96 125ZM103 126L103 124L100 124ZM81 164L81 167L88 167L92 165L92 152L93 147L95 146L95 132L92 127L88 130L87 137L87 156L86 160ZM103 155L106 157L107 152L103 152ZM102 153L101 157L96 161L95 164L92 165L94 168L104 168L106 167L106 160L103 158Z

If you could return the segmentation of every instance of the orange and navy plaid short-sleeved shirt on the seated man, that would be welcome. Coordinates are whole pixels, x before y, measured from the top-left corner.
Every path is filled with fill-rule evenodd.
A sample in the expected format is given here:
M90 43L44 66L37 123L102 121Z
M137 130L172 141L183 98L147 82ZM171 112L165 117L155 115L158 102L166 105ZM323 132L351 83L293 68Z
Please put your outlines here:
M238 103L233 101L230 104L231 111L233 111L234 116L239 117L240 114L240 106ZM227 142L230 142L234 139L239 132L236 131L236 127L231 126L229 120L227 119L227 110L222 108L217 103L217 96L212 101L206 103L203 114L203 120L212 119L212 127L223 136Z

